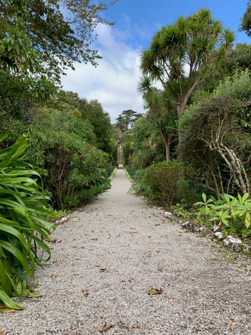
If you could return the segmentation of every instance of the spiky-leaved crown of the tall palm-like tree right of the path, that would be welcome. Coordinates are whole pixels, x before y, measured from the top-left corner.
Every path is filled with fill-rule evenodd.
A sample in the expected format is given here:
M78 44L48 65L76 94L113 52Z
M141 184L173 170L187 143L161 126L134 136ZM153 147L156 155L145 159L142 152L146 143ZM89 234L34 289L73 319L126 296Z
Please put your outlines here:
M149 49L142 52L139 92L156 95L151 83L160 82L171 93L172 98L166 100L176 105L180 118L192 92L215 73L234 38L234 32L224 29L220 20L214 20L208 8L178 17L174 24L157 31Z

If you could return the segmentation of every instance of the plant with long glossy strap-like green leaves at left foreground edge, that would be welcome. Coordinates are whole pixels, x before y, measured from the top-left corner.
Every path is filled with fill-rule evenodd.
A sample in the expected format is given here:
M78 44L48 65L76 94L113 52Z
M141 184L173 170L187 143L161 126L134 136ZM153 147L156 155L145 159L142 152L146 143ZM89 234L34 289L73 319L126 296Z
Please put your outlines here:
M35 263L42 267L44 252L46 260L50 259L44 240L50 240L50 229L54 229L44 219L53 213L43 189L29 177L40 179L40 174L19 158L28 146L29 140L22 136L0 151L0 300L16 309L22 307L10 297L31 296L25 277L34 276Z

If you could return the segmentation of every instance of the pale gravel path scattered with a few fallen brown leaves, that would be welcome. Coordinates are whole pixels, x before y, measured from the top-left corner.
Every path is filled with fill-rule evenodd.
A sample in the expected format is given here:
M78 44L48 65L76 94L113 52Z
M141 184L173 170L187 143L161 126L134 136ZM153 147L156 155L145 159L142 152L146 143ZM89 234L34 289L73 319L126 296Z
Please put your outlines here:
M36 271L43 297L0 314L0 334L251 334L250 259L184 232L129 188L120 168L109 191L56 227Z

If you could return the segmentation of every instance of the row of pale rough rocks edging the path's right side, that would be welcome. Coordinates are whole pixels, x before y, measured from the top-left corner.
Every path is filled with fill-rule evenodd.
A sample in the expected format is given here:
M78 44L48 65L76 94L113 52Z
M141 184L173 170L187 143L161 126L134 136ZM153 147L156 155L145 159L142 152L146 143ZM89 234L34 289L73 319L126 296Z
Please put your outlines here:
M163 211L163 214L169 221L180 224L182 229L195 232L199 237L206 237L207 239L218 242L222 244L222 246L225 246L232 251L236 251L237 253L245 253L245 255L251 256L250 245L244 244L241 239L238 239L233 235L227 235L225 232L218 231L220 229L219 225L214 225L213 229L210 229L192 221L183 222L169 211Z

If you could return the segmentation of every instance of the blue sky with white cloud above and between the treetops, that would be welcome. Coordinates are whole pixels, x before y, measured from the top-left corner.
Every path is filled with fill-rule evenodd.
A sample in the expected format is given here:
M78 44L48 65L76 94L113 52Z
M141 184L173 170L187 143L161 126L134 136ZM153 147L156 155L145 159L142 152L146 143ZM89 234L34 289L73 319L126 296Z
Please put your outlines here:
M74 91L88 101L97 99L110 114L112 123L123 111L144 112L139 82L139 55L151 43L160 27L172 24L177 17L195 13L202 6L210 8L213 17L236 33L236 43L251 43L238 32L248 0L118 0L103 15L114 26L99 26L96 48L102 59L98 68L75 64L62 78L63 88Z

